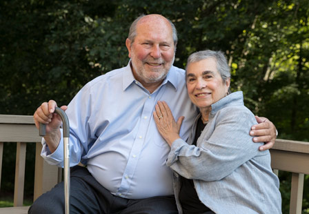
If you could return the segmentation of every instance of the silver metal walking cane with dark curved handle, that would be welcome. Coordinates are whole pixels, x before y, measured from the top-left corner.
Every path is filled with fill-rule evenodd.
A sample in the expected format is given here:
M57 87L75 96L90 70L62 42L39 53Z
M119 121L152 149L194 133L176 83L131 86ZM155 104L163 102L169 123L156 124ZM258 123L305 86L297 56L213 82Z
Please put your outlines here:
M69 119L66 113L56 107L54 113L57 113L61 117L63 126L63 159L64 159L64 200L66 214L70 213L70 125ZM46 124L40 124L39 135L46 135Z

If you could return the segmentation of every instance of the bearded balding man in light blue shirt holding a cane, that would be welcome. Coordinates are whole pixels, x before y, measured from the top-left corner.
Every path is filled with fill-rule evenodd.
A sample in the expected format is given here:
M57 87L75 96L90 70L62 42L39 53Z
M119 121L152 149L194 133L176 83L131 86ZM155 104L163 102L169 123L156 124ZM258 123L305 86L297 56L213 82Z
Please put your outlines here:
M174 117L185 116L180 136L187 139L197 115L186 93L184 70L172 66L176 45L171 21L159 14L137 18L126 39L128 66L90 81L68 107L61 106L70 119L72 213L178 213L166 166L170 148L152 117L157 101L166 101ZM43 103L34 121L37 127L47 124L42 157L63 166L55 106L52 100ZM268 142L263 149L275 142L270 121L252 129L252 135L261 135L257 142ZM87 167L75 166L79 162ZM60 183L41 195L29 213L58 214L63 208Z

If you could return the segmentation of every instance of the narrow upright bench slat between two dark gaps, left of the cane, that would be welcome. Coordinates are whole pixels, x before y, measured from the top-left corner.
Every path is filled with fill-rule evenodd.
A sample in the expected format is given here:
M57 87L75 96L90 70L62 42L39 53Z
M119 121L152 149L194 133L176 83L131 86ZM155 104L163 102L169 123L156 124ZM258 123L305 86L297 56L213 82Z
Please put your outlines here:
M23 185L25 183L26 143L17 143L14 206L23 206Z

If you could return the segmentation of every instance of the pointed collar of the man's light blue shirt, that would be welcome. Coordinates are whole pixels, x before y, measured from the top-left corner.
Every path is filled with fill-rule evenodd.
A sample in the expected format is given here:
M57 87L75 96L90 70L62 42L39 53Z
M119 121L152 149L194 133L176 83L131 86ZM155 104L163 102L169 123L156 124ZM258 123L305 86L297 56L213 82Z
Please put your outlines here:
M122 83L123 83L122 89L123 90L126 90L134 81L137 81L133 76L130 63L131 63L131 59L130 59L128 65L126 67L124 67L123 79L122 79ZM178 78L179 78L179 76L176 73L175 67L172 66L170 68L170 70L168 71L168 75L166 75L166 79L163 80L161 86L170 82L170 84L172 84L172 86L175 88L175 90L177 90Z

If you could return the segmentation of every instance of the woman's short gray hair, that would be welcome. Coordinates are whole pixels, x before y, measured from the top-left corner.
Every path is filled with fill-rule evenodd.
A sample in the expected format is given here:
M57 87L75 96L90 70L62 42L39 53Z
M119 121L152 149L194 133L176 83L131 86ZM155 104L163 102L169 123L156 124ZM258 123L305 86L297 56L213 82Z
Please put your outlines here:
M214 58L217 63L217 70L221 75L221 78L224 81L230 78L230 66L228 66L228 60L226 59L226 55L220 50L201 50L198 52L192 53L187 62L186 71L188 69L188 65L192 62L201 61L203 59Z

